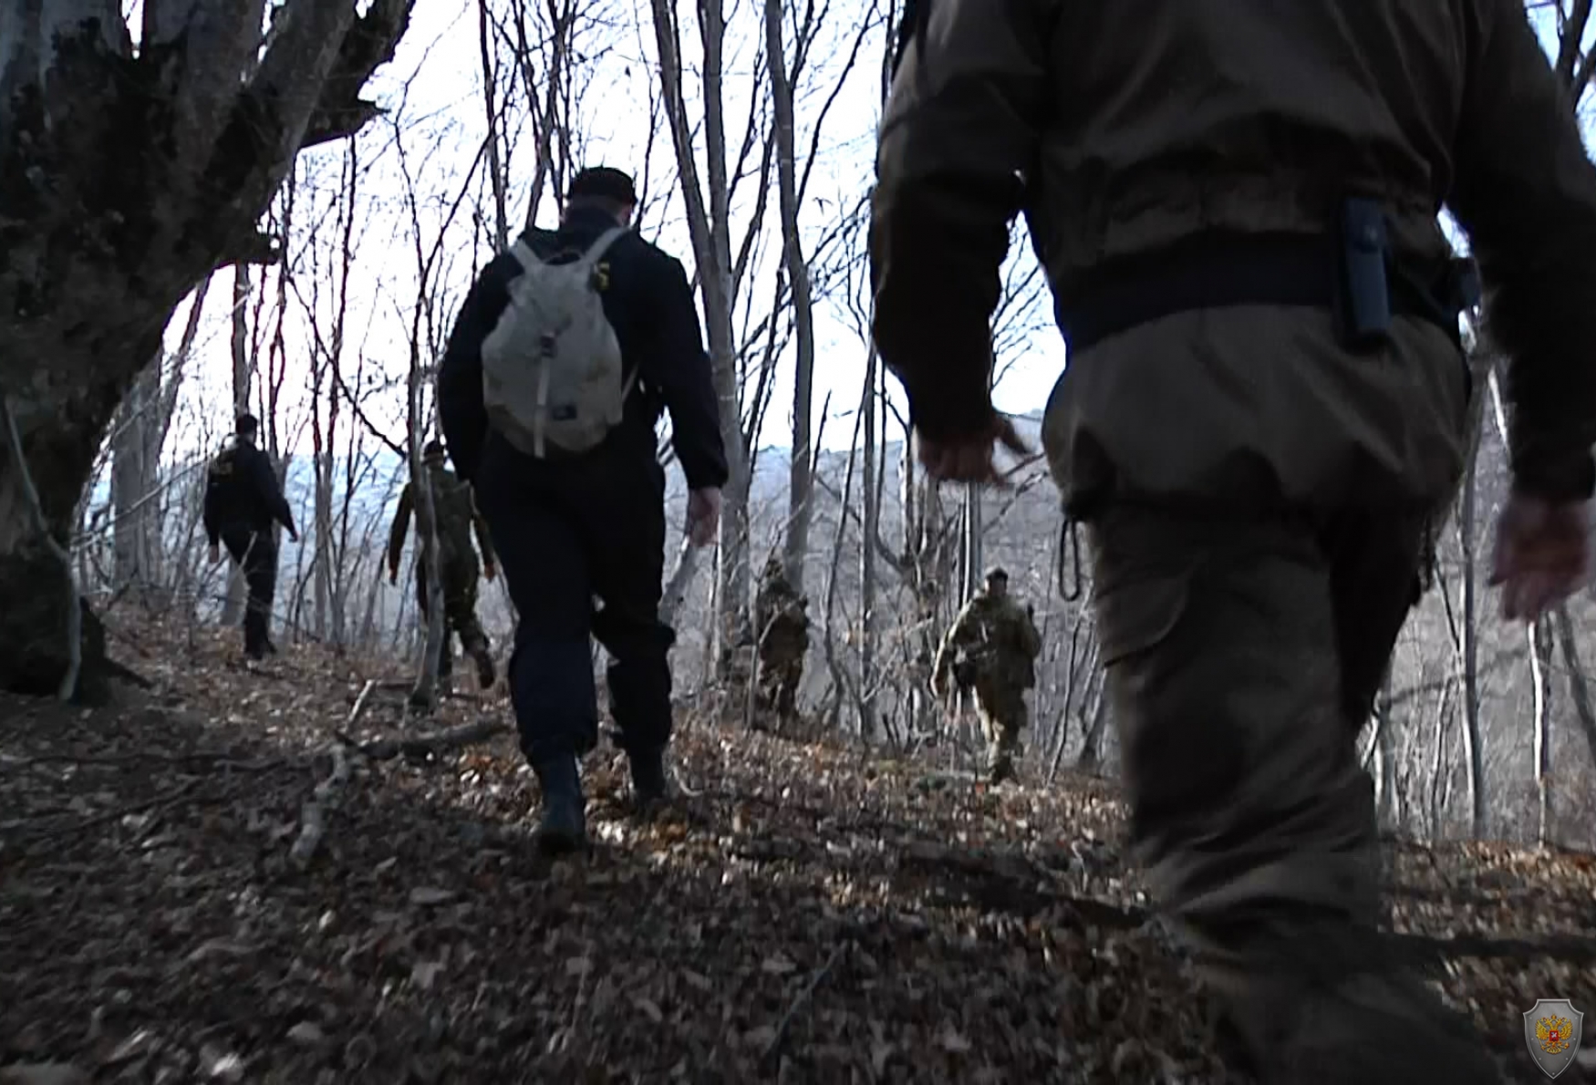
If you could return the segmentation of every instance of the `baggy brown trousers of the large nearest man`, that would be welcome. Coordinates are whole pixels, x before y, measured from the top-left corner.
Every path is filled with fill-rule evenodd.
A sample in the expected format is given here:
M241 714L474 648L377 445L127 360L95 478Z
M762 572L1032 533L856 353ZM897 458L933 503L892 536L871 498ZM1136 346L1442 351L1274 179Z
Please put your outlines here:
M1492 1080L1376 930L1357 736L1417 600L1424 520L1116 506L1090 536L1132 844L1259 1074ZM1420 1048L1425 1067L1401 1061Z

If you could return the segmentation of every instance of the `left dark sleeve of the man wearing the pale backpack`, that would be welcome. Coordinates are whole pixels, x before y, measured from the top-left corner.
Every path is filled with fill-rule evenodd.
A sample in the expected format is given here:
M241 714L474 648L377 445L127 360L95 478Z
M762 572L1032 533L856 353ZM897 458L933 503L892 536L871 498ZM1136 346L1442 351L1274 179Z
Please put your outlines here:
M437 369L439 428L448 458L466 482L477 477L488 436L488 413L482 405L482 341L509 305L509 282L519 266L516 257L501 254L482 270L460 306Z

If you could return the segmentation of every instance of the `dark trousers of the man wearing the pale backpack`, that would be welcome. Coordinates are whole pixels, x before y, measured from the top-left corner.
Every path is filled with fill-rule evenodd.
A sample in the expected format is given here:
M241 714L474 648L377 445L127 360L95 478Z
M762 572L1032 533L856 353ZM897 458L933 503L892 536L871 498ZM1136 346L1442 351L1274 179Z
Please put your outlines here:
M622 437L559 463L490 437L474 480L520 619L509 683L533 766L597 745L592 637L610 653L610 712L626 750L670 740L666 472L651 442Z

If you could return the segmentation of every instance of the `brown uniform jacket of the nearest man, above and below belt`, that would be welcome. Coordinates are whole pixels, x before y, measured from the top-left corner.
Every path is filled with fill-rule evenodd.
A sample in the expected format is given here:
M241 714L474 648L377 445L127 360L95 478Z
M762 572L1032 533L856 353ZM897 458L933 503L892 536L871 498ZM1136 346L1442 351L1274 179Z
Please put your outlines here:
M1518 480L1590 485L1596 171L1523 0L919 0L881 128L875 335L929 437L986 410L988 319L1025 211L1055 294L1208 230L1326 233L1382 199L1396 251L1468 231L1511 359ZM1467 375L1435 324L1345 353L1317 308L1160 318L1069 359L1045 442L1066 498L1435 506Z

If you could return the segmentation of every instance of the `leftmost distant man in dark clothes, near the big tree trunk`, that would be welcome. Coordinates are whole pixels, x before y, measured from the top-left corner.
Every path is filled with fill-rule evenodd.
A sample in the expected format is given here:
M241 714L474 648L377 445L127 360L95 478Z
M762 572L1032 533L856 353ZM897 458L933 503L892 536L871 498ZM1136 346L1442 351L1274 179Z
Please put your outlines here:
M260 661L276 651L270 638L271 600L278 587L278 542L273 522L281 523L298 542L294 514L282 498L278 472L255 447L260 423L239 415L233 440L227 444L206 475L204 533L211 542L211 563L222 560L222 546L244 571L249 603L244 606L244 654Z

